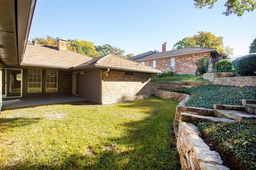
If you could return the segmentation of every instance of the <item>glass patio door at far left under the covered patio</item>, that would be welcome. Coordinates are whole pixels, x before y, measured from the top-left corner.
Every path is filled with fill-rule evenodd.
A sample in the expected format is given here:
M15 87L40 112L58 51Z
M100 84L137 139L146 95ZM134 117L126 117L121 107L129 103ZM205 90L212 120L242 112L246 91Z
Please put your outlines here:
M5 97L21 97L22 96L22 70L21 69L5 69Z

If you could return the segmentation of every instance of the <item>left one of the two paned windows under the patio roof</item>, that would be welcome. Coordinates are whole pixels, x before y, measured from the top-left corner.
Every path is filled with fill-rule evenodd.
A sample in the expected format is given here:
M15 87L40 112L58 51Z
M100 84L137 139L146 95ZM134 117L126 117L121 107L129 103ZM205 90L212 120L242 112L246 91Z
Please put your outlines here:
M42 92L42 70L28 69L28 92Z

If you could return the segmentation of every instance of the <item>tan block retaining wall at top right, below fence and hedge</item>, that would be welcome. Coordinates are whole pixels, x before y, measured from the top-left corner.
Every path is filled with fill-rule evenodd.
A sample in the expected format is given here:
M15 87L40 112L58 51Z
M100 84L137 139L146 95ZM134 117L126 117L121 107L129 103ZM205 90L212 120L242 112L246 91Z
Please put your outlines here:
M253 86L256 87L256 76L237 77L236 73L205 73L204 79L212 81L213 84L224 86Z

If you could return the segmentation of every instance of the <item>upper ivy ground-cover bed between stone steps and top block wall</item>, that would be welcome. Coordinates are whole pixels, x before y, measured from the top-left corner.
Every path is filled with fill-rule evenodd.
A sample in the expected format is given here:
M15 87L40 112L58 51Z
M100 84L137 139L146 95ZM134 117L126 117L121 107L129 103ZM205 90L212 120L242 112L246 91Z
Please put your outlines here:
M191 95L186 106L192 107L213 108L214 104L242 105L242 99L256 99L256 87L209 85L170 91Z

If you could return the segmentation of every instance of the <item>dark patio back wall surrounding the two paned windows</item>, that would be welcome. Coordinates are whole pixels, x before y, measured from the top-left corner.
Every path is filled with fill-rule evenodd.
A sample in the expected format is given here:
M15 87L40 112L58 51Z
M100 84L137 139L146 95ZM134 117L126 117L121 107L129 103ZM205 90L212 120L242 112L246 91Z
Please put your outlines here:
M53 70L53 69L47 69ZM65 78L65 75L67 76ZM72 72L58 70L58 91L46 92L46 70L42 69L42 92L28 93L28 69L23 69L22 81L23 97L47 96L47 95L71 95L72 94Z

